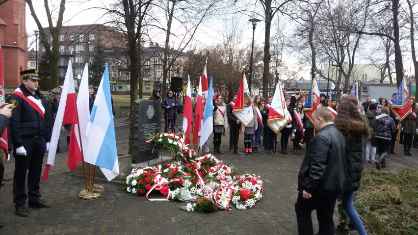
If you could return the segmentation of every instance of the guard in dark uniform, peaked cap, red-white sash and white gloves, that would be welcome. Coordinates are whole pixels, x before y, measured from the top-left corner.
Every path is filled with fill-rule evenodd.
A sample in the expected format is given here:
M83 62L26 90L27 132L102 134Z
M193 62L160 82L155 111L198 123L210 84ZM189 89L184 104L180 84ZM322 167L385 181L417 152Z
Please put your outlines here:
M39 181L45 151L51 140L51 110L44 95L38 91L39 76L34 69L20 72L22 84L7 99L13 104L10 132L15 157L13 202L18 216L27 217L29 207L50 208L40 199ZM26 195L27 173L27 195Z

